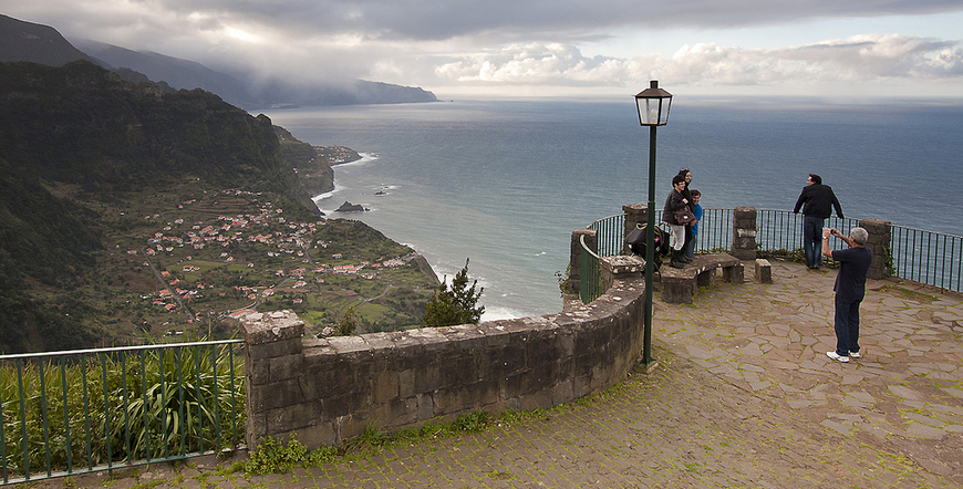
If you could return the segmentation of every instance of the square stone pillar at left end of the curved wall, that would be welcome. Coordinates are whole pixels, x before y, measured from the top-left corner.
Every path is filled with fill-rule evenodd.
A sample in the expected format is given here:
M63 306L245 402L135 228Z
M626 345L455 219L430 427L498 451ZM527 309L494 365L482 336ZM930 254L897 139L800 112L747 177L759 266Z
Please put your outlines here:
M304 403L298 382L303 370L304 322L292 311L253 313L241 320L245 336L245 441L256 450L259 438L290 429L270 424L278 413Z

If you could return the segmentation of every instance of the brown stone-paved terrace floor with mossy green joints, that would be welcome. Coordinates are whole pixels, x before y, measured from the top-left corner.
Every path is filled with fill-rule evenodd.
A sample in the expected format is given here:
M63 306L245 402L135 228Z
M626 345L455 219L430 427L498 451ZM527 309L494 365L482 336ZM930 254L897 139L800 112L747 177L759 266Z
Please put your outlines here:
M692 305L656 301L654 370L536 420L283 475L196 459L37 486L963 487L961 294L871 281L862 357L842 364L826 356L836 271L746 272Z

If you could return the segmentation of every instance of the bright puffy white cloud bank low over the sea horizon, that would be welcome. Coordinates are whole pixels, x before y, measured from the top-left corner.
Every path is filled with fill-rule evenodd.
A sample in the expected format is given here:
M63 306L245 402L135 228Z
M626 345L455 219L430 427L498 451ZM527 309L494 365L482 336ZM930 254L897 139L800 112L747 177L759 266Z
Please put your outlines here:
M441 82L636 86L650 79L673 85L760 85L868 82L880 79L959 80L957 43L898 34L847 39L779 49L743 49L701 43L671 59L583 56L572 45L511 44L497 52L439 64Z

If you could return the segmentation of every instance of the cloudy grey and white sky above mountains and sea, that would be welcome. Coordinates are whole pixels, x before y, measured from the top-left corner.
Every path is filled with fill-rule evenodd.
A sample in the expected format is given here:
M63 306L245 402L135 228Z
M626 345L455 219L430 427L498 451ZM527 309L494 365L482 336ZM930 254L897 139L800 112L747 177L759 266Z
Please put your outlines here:
M439 98L963 97L960 0L0 0L136 51Z

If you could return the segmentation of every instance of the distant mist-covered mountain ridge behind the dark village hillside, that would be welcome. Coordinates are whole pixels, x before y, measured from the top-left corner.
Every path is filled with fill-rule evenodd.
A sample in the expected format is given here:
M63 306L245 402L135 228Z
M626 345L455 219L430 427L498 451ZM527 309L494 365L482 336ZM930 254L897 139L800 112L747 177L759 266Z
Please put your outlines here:
M173 89L201 89L246 110L287 106L437 102L421 87L362 80L300 85L279 79L256 81L245 73L224 73L200 63L153 52L137 52L96 41L71 43L56 29L0 14L0 62L30 61L61 66L86 60L127 81L154 81Z

